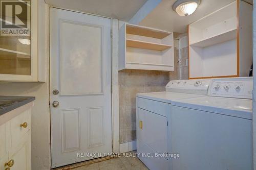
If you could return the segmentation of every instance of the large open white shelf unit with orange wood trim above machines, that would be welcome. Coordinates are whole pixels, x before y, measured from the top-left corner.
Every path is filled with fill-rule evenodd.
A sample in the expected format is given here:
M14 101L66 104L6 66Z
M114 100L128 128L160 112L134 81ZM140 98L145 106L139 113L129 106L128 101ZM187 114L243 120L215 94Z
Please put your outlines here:
M237 0L191 23L189 79L248 76L252 64L252 6Z

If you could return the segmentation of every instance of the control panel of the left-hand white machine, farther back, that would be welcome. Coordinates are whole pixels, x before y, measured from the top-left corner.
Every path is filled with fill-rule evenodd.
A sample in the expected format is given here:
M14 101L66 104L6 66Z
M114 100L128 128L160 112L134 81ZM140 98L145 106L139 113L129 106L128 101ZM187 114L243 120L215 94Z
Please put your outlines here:
M211 79L175 80L170 81L166 91L190 94L207 94Z

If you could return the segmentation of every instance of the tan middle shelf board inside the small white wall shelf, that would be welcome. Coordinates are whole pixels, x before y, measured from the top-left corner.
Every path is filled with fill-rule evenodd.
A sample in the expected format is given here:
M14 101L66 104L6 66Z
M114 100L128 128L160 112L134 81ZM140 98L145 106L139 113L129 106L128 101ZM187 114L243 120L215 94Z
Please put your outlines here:
M139 41L139 40L133 40L133 39L126 39L126 46L134 47L134 48L142 48L146 50L156 50L156 51L163 51L172 47L170 45L145 42L145 41Z

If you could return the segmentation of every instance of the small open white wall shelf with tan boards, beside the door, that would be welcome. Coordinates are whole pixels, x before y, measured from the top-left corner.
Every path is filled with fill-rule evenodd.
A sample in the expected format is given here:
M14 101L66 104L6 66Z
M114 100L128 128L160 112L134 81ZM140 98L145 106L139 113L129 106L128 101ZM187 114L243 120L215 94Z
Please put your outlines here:
M174 70L172 32L124 23L119 29L119 70Z

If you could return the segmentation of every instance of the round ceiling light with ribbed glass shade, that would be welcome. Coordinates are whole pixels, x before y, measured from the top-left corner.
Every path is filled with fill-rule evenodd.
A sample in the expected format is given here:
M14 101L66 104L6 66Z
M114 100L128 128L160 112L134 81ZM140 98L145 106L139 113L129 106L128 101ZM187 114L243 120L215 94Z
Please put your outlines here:
M174 3L173 9L180 16L193 14L200 4L200 0L178 0Z

